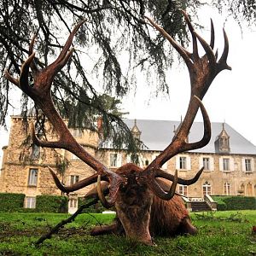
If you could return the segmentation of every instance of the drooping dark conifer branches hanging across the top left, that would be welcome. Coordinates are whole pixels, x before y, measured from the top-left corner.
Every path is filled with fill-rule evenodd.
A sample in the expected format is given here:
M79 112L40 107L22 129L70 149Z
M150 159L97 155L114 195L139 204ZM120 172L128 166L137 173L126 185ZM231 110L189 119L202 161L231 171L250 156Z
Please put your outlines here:
M212 2L220 10L228 5L230 12L235 10L237 19L242 9L242 16L249 21L251 18L255 20L254 1ZM120 119L122 116L105 108L101 95L107 93L118 99L124 96L132 81L136 83L133 78L136 68L141 68L145 75L154 73L158 89L168 92L165 73L172 65L172 49L166 48L169 46L160 36L152 37L152 30L145 24L143 15L146 13L153 17L184 45L187 43L186 28L178 9L186 9L189 15L195 15L201 4L195 0L1 0L0 125L5 125L11 104L10 84L3 79L4 69L12 74L20 73L33 34L37 34L36 64L40 68L47 66L61 50L63 38L75 24L86 19L76 36L74 46L77 50L73 58L55 78L55 105L62 117L68 117L69 125L74 127L91 129L96 115L102 115L104 134L114 137L113 141L118 141L119 145L134 148L131 136L123 137L129 129ZM124 57L125 63L122 63ZM28 102L23 94L21 113L25 117L30 111Z

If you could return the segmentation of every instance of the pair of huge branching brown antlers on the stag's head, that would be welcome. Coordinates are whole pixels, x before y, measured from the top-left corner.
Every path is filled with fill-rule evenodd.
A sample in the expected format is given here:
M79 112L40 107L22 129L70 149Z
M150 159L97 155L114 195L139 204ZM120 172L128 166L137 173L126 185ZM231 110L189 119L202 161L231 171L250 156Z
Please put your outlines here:
M143 171L140 172L137 176L138 183L147 183L149 188L154 192L155 195L158 195L160 198L164 200L170 200L172 196L175 194L175 188L177 183L181 184L192 184L197 181L200 177L203 168L195 177L184 180L180 177L177 177L177 172L175 175L164 172L160 169L162 165L166 163L167 160L170 160L174 155L192 150L195 148L202 148L209 142L211 138L211 123L207 115L207 111L204 108L201 100L203 96L207 93L207 90L212 83L212 80L224 69L231 69L227 64L227 56L229 52L229 43L226 33L224 32L224 52L222 56L217 61L217 52L213 53L214 46L214 29L213 24L211 22L211 43L207 44L207 42L199 36L189 21L188 15L182 10L186 23L189 26L189 31L191 32L193 39L193 52L189 53L188 50L184 49L180 45L178 45L175 40L160 26L154 23L153 20L148 19L148 21L172 44L172 46L177 49L179 55L182 56L185 61L190 76L190 84L191 84L191 94L189 100L188 111L183 119L183 123L181 124L177 135L172 139L172 143L155 159L153 162ZM61 50L61 54L57 57L57 59L50 64L48 67L45 67L43 70L38 70L34 63L35 53L32 52L33 44L35 38L32 39L32 43L29 47L29 57L25 61L25 63L20 68L20 79L13 78L7 71L5 72L5 76L9 79L10 82L17 85L20 90L24 91L27 96L30 96L33 101L41 108L44 114L47 116L49 121L54 125L55 131L59 134L59 140L55 142L49 141L41 141L35 135L35 131L32 131L32 138L34 143L41 147L48 148L65 148L77 155L81 160L83 160L86 164L96 170L96 174L87 177L81 180L79 183L73 184L73 186L65 187L61 184L58 177L56 177L55 172L51 168L49 168L52 176L55 179L55 183L59 189L64 192L72 192L85 186L90 183L95 183L98 180L100 183L100 177L102 180L106 180L110 183L109 186L109 201L105 201L103 198L101 189L98 188L98 194L104 204L109 207L112 206L117 192L119 190L120 184L125 184L125 177L116 174L108 170L106 166L104 166L101 162L92 157L88 152L84 150L83 147L79 145L71 135L70 131L67 129L67 125L65 125L64 121L61 119L59 113L57 113L55 106L52 102L50 95L50 87L55 77L55 74L58 73L62 67L65 66L68 59L73 53L73 49L70 49L70 46L73 41L73 37L75 33L78 31L79 27L84 23L81 21L77 26L74 27L73 32L71 32L64 48ZM199 56L197 41L199 41L202 47L205 49L206 54L202 57ZM70 49L70 50L69 50ZM30 86L28 82L28 74L29 67L32 69L32 76L34 79L34 85ZM196 143L186 143L186 138L189 135L189 130L194 122L195 115L198 112L198 109L201 108L201 113L204 119L204 136L201 141ZM98 178L97 178L98 177ZM155 180L155 177L163 177L172 181L172 186L169 192L165 192Z

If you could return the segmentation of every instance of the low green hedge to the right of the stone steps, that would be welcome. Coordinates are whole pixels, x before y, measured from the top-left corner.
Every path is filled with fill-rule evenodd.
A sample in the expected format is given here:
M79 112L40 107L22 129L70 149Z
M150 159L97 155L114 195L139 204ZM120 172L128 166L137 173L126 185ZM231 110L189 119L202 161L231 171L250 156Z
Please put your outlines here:
M218 211L256 210L256 197L212 195L212 199L218 203Z

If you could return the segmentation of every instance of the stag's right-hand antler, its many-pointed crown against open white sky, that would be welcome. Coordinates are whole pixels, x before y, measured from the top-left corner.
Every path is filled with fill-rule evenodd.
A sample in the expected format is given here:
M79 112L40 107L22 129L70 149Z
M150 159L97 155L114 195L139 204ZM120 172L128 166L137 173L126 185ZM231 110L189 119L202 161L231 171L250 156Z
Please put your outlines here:
M190 76L190 85L191 85L191 93L189 100L189 107L185 118L183 119L183 123L181 124L177 135L173 138L172 143L159 154L159 156L154 159L150 165L142 172L140 179L148 180L148 184L151 189L154 191L155 195L160 196L162 199L169 199L172 193L166 193L163 189L160 188L160 185L155 181L154 177L164 177L166 179L172 180L173 183L181 183L189 185L191 183L195 183L196 180L200 177L203 168L195 175L191 180L183 180L181 178L174 177L173 175L160 170L160 167L163 166L167 160L170 160L174 155L196 149L202 148L209 143L211 139L211 123L209 117L207 115L207 111L204 108L201 100L203 96L207 93L207 90L212 84L213 79L224 69L230 70L231 67L227 65L227 57L229 53L229 42L227 35L224 31L224 51L221 55L220 59L217 61L218 54L214 54L214 27L211 20L211 42L207 44L207 42L201 38L201 36L195 32L194 27L192 26L188 15L181 10L183 16L185 18L186 23L189 26L189 32L192 35L193 42L193 52L189 53L188 50L184 49L182 46L178 45L177 42L160 26L154 23L148 17L145 17L152 26L154 26L177 50L177 53L182 56L183 61L185 61ZM199 41L205 49L206 54L202 57L199 56L198 53L198 45L197 41ZM198 108L201 108L201 113L204 119L204 136L201 141L196 143L186 143L186 138L189 135L189 130L194 122L195 115L198 112ZM152 183L152 180L154 182ZM176 181L177 180L177 181Z

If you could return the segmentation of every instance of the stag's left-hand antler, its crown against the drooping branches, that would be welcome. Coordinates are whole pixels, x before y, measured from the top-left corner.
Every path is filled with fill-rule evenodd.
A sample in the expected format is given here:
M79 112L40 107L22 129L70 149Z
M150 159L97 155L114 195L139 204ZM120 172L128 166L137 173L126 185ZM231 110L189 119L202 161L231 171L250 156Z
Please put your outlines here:
M35 53L32 52L33 44L35 42L35 37L33 37L29 46L29 57L20 68L20 78L13 78L7 70L5 71L5 77L9 79L10 82L18 86L20 90L25 92L27 96L32 98L38 107L42 109L46 117L49 119L49 122L54 126L55 131L57 131L57 134L59 135L59 139L55 142L42 141L38 139L34 128L32 128L33 142L41 147L65 148L73 154L77 155L81 160L84 161L84 163L93 168L99 175L102 175L103 179L108 180L110 183L110 201L113 203L113 201L115 201L116 193L119 189L119 184L124 182L123 178L108 170L106 166L96 160L92 155L85 151L79 143L76 142L68 130L67 125L63 119L61 119L60 114L55 109L51 98L51 84L55 78L56 73L61 71L61 68L66 65L67 61L71 57L73 49L70 49L70 46L72 44L73 37L79 30L79 27L82 26L84 21L85 20L80 21L79 24L73 28L73 32L71 32L67 38L67 42L61 50L60 55L48 67L45 67L42 70L38 70L36 67L34 63ZM34 80L33 86L31 86L28 82L29 68L32 69L32 76ZM90 183L96 182L97 175L92 175L80 181L79 183L74 184L73 186L65 187L58 180L55 172L53 172L53 170L50 168L49 170L54 177L57 187L67 193L81 189Z

